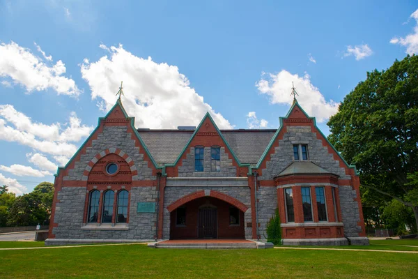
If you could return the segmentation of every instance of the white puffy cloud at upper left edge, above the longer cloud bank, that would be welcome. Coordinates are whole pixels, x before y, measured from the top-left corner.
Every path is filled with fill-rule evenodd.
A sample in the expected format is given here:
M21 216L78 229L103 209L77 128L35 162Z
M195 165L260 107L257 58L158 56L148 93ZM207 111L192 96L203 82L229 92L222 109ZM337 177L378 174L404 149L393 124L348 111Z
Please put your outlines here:
M53 89L58 94L78 96L80 91L75 81L63 77L65 70L61 60L54 66L48 66L29 49L13 41L0 45L0 77L10 77L15 84L24 86L27 93Z

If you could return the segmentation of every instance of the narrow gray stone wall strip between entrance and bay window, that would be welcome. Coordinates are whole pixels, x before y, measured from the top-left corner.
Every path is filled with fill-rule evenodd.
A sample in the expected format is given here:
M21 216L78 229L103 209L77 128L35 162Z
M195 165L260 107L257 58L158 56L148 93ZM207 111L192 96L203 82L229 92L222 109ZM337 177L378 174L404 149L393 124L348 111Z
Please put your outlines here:
M258 209L258 234L260 238L267 238L267 223L277 209L277 189L276 187L260 187L257 191Z

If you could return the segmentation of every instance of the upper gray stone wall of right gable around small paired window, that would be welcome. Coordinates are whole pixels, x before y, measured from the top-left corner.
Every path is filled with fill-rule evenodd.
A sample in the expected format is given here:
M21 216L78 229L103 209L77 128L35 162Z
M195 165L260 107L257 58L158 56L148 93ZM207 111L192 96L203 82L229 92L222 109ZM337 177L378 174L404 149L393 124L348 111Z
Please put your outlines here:
M279 174L294 161L293 144L307 144L308 156L311 162L326 169L328 172L338 174L340 179L350 179L343 167L339 167L339 160L334 160L332 153L328 153L327 146L323 146L321 140L312 133L310 126L287 126L283 139L279 140L279 146L274 149L271 160L262 169L263 176L259 180L268 180Z

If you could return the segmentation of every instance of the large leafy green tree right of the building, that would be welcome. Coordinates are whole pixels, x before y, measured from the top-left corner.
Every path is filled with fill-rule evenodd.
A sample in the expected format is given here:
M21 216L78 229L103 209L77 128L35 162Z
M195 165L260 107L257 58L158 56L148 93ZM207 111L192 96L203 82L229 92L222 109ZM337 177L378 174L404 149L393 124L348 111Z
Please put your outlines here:
M418 171L417 103L418 56L408 55L367 73L330 118L328 139L356 165L362 186L411 207L418 224L418 183L411 179Z

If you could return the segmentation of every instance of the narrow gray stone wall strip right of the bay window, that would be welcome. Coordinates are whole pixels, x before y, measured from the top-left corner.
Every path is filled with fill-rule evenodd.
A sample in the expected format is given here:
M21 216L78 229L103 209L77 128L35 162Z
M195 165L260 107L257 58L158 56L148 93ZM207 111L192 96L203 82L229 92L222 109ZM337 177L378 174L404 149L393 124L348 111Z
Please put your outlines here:
M354 199L357 193L351 186L339 186L341 214L344 223L344 234L348 237L359 236L362 227L357 225L360 220L359 204Z

